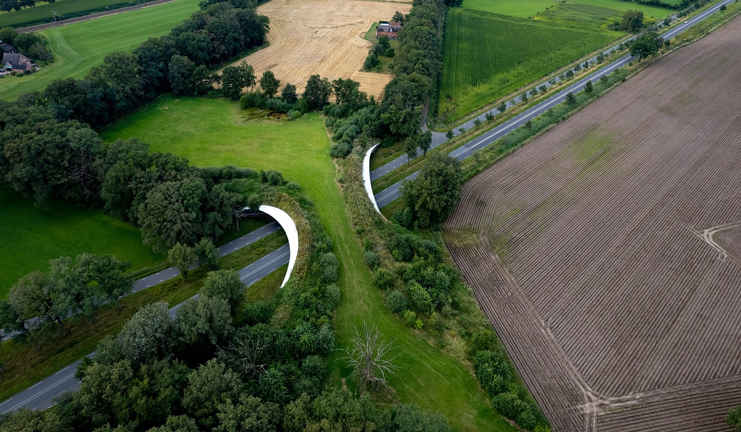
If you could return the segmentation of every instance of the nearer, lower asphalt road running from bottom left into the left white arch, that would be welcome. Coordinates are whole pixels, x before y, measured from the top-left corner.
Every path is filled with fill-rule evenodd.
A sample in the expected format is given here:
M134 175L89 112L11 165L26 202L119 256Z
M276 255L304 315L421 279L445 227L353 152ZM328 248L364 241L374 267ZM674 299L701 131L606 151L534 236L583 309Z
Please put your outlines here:
M245 285L250 286L253 283L259 281L268 274L280 267L288 264L288 257L290 255L290 248L288 244L279 247L268 255L263 256L256 262L253 262L247 267L239 270L240 279L245 282ZM191 297L191 299L197 299L198 294ZM185 301L187 302L187 300ZM175 318L177 310L185 305L185 302L179 303L170 309L170 318ZM90 353L89 356L94 356L95 353ZM30 388L25 389L16 393L15 396L0 403L0 414L4 414L10 411L15 411L19 408L29 409L46 409L53 406L54 398L67 391L76 391L79 388L80 382L75 378L75 371L77 365L82 362L82 359L74 362L66 368L59 370L59 372L52 376L47 376L41 381L37 382Z

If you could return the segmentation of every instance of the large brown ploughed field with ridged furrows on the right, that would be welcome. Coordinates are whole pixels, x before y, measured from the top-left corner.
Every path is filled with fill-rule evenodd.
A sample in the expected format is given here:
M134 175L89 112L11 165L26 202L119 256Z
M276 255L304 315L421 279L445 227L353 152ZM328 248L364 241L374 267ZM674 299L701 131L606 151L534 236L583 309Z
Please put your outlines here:
M554 431L741 404L741 19L468 182L453 259Z

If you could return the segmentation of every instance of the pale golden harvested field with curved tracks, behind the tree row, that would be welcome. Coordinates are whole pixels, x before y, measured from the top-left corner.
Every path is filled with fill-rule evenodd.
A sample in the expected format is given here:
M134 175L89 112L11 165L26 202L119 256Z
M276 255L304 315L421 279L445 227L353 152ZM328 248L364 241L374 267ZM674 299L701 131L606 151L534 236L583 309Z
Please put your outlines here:
M330 80L354 79L360 90L380 96L393 76L360 71L371 47L363 36L374 22L410 9L411 2L270 0L257 8L270 18L270 45L245 60L258 79L272 70L281 85L296 84L299 93L309 76L318 73Z

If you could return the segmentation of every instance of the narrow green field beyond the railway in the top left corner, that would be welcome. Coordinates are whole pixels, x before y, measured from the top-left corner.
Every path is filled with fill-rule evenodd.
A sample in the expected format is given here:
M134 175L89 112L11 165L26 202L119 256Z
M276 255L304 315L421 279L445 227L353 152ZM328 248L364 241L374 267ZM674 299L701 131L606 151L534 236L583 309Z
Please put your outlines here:
M61 0L53 4L39 2L36 7L0 13L0 27L27 27L53 21L56 12L62 19L89 15L102 10L117 9L136 4L135 0Z

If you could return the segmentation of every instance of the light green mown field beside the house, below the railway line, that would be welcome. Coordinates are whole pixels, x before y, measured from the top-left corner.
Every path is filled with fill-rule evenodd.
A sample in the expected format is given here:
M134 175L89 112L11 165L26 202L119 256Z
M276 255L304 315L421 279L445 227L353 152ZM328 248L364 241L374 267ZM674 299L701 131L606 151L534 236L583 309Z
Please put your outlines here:
M177 0L131 12L69 24L41 32L54 62L30 75L0 79L0 99L43 90L55 79L83 78L107 54L130 51L150 37L162 36L198 10L199 0Z

